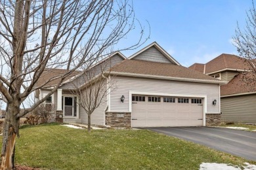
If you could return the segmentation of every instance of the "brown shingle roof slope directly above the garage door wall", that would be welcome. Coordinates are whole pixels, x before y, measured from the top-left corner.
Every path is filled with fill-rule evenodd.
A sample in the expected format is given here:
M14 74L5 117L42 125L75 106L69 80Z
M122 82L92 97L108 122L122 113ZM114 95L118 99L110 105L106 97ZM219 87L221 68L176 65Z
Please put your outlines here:
M125 59L121 63L112 67L111 71L140 75L169 76L174 78L192 78L219 81L217 78L204 75L203 73L199 73L198 71L188 69L181 65L174 65L171 63L156 63L137 59Z

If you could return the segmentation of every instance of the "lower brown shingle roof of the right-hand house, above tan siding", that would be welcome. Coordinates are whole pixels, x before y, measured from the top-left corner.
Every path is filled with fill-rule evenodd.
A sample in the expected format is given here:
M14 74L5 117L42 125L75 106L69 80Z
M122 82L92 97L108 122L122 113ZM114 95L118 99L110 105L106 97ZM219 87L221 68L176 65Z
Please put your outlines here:
M243 95L256 92L256 75L253 72L240 73L228 84L221 86L221 96Z

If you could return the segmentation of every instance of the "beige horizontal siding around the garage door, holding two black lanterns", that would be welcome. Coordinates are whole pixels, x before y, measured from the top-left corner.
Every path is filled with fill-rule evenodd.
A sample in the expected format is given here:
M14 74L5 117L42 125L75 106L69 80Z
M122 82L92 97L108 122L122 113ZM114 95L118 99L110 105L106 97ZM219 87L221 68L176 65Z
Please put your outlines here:
M116 88L110 94L110 110L129 110L129 91L171 93L177 95L206 95L206 113L219 113L219 84L207 84L199 82L182 82L175 80L160 80L153 78L139 78L129 76L116 76ZM124 95L125 101L121 103L120 97ZM217 105L212 105L216 99Z

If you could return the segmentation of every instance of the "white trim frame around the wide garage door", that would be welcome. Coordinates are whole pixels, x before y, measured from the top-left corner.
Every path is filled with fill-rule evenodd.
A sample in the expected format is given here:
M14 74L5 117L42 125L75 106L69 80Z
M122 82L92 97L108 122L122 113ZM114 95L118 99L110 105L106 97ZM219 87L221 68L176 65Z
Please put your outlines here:
M129 92L129 112L131 112L131 118L133 118L132 112L132 95L158 95L158 96L172 96L172 97L195 97L203 98L203 126L205 126L205 111L207 110L207 95L187 95L187 94L175 94L175 93L152 93L152 92Z

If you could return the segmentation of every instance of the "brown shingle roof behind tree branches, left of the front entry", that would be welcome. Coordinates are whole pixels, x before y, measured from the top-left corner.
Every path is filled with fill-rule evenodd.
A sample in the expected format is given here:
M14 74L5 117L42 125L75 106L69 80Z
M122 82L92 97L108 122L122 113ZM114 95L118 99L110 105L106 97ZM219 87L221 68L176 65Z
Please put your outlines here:
M66 73L66 71L67 71L66 69L48 69L48 68L46 68L45 71L43 71L40 78L38 79L35 86L37 86L37 84L38 85L44 84L50 78L53 78L53 77L56 77L56 76L59 76L59 75L64 75ZM69 78L72 78L72 76L78 75L79 73L81 73L81 72L80 71L74 71L71 75L64 78L64 81L68 80ZM60 78L57 78L56 80L53 80L53 81L47 83L44 87L55 86L56 84L58 84L59 81L60 81Z

